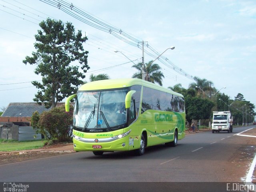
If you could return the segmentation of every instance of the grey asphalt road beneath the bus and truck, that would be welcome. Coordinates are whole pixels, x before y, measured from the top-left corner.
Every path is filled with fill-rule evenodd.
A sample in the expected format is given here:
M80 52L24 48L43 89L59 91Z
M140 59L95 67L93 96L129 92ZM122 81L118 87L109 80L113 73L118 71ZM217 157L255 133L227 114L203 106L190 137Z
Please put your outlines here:
M235 134L248 128L188 134L176 147L148 147L143 156L76 152L1 165L0 182L241 182L247 170L236 175L232 156L246 142Z

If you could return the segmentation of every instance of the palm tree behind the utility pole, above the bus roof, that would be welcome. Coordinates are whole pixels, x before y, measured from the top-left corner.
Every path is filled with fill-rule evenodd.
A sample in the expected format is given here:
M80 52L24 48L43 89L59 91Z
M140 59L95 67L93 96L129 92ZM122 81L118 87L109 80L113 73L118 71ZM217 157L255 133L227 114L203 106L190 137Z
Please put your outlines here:
M152 83L156 82L162 86L164 74L161 72L161 67L158 64L152 64L152 61L145 63L145 80ZM132 67L139 71L134 73L132 78L142 79L142 63L135 64Z

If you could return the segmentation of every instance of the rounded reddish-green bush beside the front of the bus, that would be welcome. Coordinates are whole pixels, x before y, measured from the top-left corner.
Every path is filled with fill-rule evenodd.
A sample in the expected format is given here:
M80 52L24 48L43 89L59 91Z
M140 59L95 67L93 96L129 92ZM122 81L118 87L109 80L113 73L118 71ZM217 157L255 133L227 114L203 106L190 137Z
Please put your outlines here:
M70 112L66 112L64 106L42 112L41 115L34 112L31 121L33 128L43 134L48 143L71 141L73 107L70 107Z

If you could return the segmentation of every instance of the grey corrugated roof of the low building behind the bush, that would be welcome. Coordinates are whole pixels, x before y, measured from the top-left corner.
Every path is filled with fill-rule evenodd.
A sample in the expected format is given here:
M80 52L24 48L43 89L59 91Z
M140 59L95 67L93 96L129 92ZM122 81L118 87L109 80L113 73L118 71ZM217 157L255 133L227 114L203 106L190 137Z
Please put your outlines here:
M64 102L59 102L56 106L64 104ZM71 105L74 105L74 103L71 103ZM41 114L43 111L49 111L50 109L45 108L44 104L39 105L36 102L10 103L1 117L31 117L35 111Z

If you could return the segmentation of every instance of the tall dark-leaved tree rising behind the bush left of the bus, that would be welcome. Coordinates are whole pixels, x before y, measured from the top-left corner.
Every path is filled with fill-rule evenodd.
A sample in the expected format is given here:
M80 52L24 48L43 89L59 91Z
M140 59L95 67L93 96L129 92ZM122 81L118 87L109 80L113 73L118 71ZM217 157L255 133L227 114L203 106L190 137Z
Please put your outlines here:
M37 65L35 73L42 76L42 83L32 82L39 89L33 100L49 108L76 92L83 83L80 78L85 78L84 73L89 69L88 51L84 51L82 45L87 38L82 37L80 30L76 33L70 22L64 24L61 20L47 18L39 26L42 29L35 35L36 52L32 52L31 57L26 56L23 63ZM76 60L80 66L71 66ZM79 67L84 73L79 72Z

